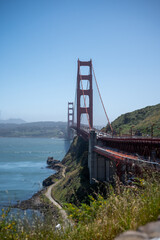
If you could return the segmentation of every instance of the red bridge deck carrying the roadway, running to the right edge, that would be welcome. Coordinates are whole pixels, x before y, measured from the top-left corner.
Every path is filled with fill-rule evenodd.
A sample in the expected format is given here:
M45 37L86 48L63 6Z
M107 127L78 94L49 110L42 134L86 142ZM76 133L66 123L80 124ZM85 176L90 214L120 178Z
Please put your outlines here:
M82 136L85 140L89 139L89 128L83 127L81 129L77 129L75 125L72 126L72 128L76 130L77 134ZM103 147L98 145L94 147L93 151L96 153L114 161L138 161L158 164L146 161L142 157L140 158L139 156L135 156L135 153L141 156L151 157L155 151L156 157L160 158L160 138L111 137L109 134L97 130L95 131L97 133L97 142L102 142L103 145ZM112 150L110 148L112 148ZM119 150L125 151L126 153L119 152Z

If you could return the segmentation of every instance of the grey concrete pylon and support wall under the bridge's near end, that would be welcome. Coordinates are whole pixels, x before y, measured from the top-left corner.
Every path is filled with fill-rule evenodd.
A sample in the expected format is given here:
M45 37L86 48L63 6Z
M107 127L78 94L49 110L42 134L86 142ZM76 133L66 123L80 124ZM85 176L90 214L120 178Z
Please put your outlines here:
M95 145L97 145L97 134L94 130L91 130L88 151L90 184L93 184L95 180L113 182L116 169L115 162L97 154L94 151Z

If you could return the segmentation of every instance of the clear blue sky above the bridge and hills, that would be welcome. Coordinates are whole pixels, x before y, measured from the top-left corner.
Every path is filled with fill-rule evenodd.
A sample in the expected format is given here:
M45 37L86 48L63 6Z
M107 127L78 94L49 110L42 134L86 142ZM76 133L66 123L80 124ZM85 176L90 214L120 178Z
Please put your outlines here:
M66 121L78 58L111 120L160 103L160 0L0 0L1 118Z

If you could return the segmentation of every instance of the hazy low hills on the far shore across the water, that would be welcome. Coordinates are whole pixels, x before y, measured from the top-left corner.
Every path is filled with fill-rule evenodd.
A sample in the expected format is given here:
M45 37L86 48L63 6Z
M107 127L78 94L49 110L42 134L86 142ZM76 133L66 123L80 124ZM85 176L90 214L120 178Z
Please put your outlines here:
M0 137L58 137L65 138L65 122L0 123Z

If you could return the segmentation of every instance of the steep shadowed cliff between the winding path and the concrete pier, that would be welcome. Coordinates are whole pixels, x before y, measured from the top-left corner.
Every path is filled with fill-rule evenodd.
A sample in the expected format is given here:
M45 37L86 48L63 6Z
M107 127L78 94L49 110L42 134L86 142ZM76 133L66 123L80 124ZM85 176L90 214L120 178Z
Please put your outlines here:
M81 137L75 137L68 153L62 160L67 167L67 180L64 184L66 189L66 201L79 205L88 202L88 195L97 195L104 192L104 184L89 182L88 169L88 141Z

